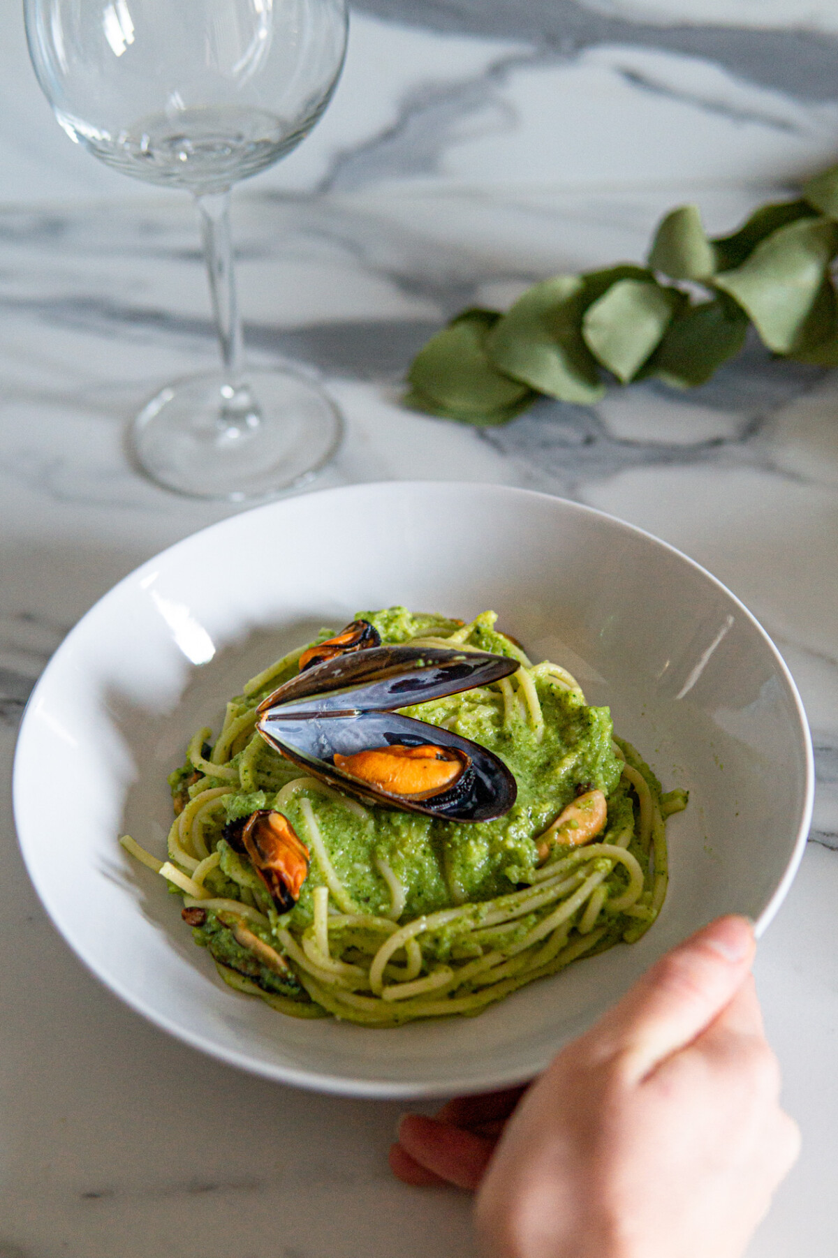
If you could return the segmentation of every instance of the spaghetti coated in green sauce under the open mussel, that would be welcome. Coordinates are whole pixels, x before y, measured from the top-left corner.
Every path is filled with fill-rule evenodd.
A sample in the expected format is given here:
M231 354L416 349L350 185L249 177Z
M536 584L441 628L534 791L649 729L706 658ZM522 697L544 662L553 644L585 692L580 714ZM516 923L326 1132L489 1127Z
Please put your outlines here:
M254 732L257 706L311 647L283 657L228 703L214 743L209 730L190 741L170 777L167 859L121 840L184 897L182 916L224 981L286 1014L386 1028L479 1013L638 940L666 897L666 818L686 793L662 794L614 737L608 708L589 707L560 665L532 665L493 613L468 625L404 608L361 615L383 643L518 663L491 686L404 710L501 756L517 801L496 820L455 823L364 806L323 785ZM287 912L229 842L230 827L263 809L281 813L311 857Z

